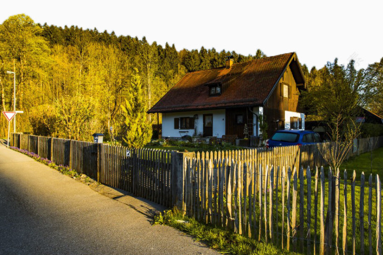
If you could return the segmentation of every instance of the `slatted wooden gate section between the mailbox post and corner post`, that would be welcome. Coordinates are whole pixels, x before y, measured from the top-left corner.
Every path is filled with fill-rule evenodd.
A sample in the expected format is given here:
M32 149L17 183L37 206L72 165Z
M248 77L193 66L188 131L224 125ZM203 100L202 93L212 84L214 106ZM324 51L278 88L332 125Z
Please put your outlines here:
M101 183L166 207L173 206L170 151L102 145L100 156Z

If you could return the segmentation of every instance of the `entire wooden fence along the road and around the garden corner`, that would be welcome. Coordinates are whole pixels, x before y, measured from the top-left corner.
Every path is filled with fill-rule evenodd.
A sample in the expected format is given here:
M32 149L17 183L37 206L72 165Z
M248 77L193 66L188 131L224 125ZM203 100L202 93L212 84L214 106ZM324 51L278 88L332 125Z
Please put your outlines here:
M351 181L347 172L325 175L318 167L326 164L323 153L331 143L197 154L23 134L12 134L10 143L103 184L282 248L381 254L379 176L372 182L370 175L365 184L364 174L356 179L354 172ZM359 139L356 145L346 158L382 147L383 137Z

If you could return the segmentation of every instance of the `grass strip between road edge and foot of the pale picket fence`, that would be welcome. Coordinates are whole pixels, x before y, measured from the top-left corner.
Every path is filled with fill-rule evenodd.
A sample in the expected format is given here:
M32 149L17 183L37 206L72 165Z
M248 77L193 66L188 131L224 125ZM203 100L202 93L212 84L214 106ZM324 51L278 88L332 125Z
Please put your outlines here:
M177 220L183 220L184 222ZM232 231L220 227L202 224L193 218L182 217L181 213L175 209L165 211L164 214L156 216L154 225L156 224L169 225L177 228L222 253L297 254L282 250L269 243L258 242L256 239L235 234Z

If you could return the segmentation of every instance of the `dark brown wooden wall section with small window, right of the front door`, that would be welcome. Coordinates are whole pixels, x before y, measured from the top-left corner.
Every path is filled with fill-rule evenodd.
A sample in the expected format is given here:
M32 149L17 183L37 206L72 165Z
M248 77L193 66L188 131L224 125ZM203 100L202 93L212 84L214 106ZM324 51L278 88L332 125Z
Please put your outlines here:
M241 114L243 116L243 124L236 123L236 116ZM238 138L244 138L243 128L244 124L247 124L248 135L252 135L252 113L247 108L228 108L226 109L225 117L225 134L237 135Z

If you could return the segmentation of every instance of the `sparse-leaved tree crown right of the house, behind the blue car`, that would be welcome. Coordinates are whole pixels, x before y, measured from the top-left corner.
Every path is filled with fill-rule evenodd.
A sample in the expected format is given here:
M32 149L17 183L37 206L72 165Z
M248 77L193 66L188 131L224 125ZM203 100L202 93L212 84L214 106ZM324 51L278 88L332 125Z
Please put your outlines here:
M382 90L379 70L381 65L356 71L354 60L345 67L338 65L338 59L328 62L321 70L313 68L308 77L308 91L302 93L302 102L309 114L317 115L330 129L334 130L336 123L341 123L337 129L342 132L342 126L346 127L355 118L360 107Z

